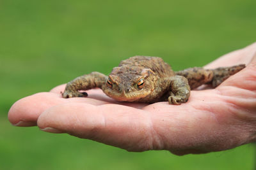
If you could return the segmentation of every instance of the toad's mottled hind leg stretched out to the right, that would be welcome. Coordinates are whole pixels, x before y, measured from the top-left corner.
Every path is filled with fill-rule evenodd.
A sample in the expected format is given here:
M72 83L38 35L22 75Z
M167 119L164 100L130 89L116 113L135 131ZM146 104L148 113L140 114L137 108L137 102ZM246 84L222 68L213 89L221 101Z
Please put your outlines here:
M232 67L218 67L216 69L204 69L202 67L193 67L175 72L176 75L184 76L188 79L191 89L195 89L205 83L210 83L212 87L217 87L228 77L236 74L245 67L240 64Z

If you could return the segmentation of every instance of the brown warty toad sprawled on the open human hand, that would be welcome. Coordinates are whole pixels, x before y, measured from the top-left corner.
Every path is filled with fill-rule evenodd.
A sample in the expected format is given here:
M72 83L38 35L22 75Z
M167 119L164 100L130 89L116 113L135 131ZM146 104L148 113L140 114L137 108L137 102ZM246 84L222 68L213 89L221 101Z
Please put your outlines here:
M67 83L62 96L86 97L87 93L79 90L100 88L117 101L180 104L188 101L190 90L205 83L217 87L244 67L244 64L217 69L193 67L175 72L159 57L134 56L121 61L109 76L92 72L77 77Z

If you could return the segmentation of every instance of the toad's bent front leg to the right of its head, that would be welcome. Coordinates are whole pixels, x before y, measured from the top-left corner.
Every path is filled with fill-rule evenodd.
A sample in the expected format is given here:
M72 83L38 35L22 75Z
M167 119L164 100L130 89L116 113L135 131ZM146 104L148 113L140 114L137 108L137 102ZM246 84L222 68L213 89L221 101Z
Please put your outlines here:
M184 76L172 76L170 80L169 104L181 104L188 101L190 87L188 80Z

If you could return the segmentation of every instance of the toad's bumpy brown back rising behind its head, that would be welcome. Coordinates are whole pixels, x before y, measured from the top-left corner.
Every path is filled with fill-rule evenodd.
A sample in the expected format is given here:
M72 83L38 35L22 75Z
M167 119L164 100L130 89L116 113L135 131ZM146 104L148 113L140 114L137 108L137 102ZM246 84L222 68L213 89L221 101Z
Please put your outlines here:
M131 69L151 69L160 77L173 76L172 67L160 57L134 56L122 60L118 67L130 67Z

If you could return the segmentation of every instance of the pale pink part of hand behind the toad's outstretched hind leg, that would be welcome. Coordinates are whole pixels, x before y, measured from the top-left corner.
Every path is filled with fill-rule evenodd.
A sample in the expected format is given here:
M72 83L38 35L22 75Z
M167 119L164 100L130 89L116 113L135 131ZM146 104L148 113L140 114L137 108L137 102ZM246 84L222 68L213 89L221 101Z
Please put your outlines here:
M256 43L246 46L241 50L236 50L234 52L227 53L219 59L207 64L205 68L212 69L215 67L227 67L234 66L237 64L248 64L252 60L253 55L256 52Z

